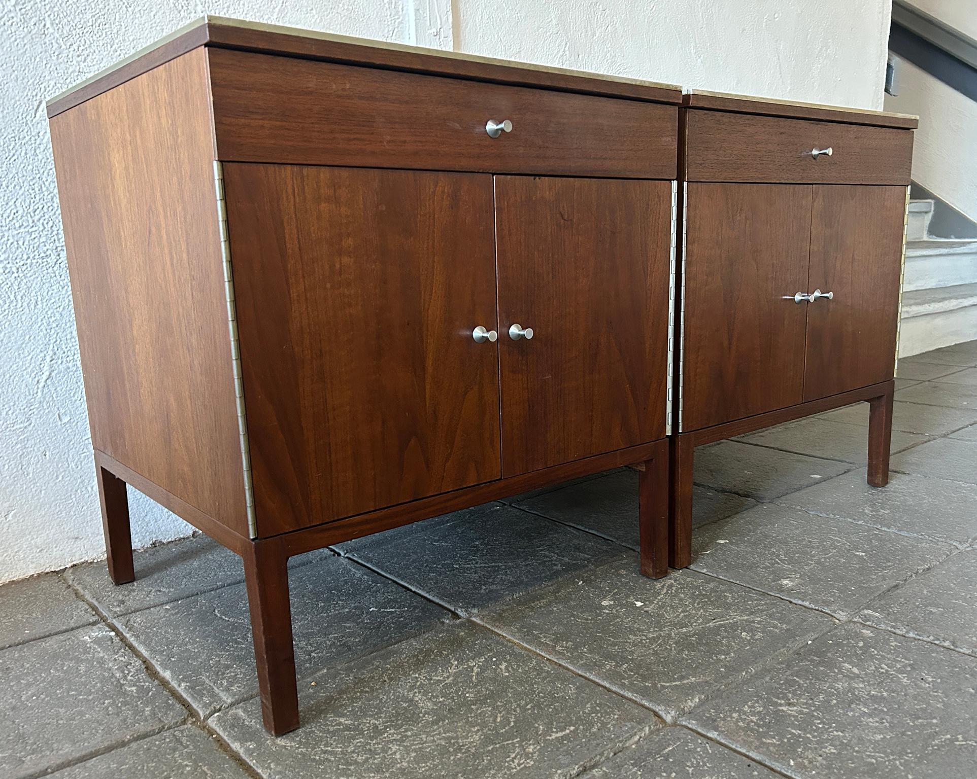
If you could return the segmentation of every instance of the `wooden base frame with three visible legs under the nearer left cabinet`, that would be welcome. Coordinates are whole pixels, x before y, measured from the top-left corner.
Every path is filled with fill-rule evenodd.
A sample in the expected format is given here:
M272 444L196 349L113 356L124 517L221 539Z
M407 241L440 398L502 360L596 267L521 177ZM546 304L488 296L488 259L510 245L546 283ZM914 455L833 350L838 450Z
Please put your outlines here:
M298 688L288 595L288 558L361 536L400 527L517 495L578 476L635 466L638 476L638 527L641 573L658 579L668 572L668 440L632 446L554 468L477 484L314 527L267 538L246 538L172 493L95 452L109 576L115 584L135 579L126 484L176 513L219 544L239 554L251 613L255 665L265 729L282 735L299 726Z

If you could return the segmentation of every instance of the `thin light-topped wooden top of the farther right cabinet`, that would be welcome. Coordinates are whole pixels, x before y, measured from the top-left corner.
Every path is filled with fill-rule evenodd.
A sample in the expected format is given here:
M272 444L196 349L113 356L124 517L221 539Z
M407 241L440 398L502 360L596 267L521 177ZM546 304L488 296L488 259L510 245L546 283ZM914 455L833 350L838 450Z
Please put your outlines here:
M772 98L754 98L749 95L732 95L705 90L687 90L682 105L687 108L758 113L766 116L786 116L791 119L820 119L828 122L897 127L907 130L919 126L919 117L909 113L872 111L868 108L848 108L820 102L778 101Z

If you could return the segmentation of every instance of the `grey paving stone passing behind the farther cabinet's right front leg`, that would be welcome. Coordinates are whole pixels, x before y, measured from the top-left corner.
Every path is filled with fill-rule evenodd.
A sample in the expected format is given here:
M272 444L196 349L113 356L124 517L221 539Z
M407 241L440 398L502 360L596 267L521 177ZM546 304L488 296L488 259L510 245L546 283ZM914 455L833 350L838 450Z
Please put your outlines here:
M869 431L858 425L847 425L819 417L788 422L765 431L751 432L736 440L770 446L787 452L845 460L864 465L869 462ZM929 440L925 435L892 431L890 451L899 452Z

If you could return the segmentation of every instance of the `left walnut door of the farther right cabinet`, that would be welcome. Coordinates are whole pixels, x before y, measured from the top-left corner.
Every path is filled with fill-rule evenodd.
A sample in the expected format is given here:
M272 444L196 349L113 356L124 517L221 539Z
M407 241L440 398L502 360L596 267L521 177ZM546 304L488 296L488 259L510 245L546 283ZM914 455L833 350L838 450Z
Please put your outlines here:
M809 184L688 184L681 429L800 402Z

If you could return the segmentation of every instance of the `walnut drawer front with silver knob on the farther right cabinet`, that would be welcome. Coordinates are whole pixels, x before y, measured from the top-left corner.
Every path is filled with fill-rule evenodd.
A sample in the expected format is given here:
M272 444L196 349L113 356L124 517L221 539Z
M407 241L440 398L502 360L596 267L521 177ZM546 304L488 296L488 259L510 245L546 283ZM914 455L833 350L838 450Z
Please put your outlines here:
M690 182L910 183L912 130L706 110L687 111L686 126Z

